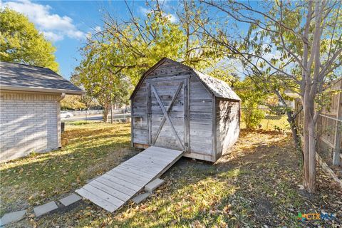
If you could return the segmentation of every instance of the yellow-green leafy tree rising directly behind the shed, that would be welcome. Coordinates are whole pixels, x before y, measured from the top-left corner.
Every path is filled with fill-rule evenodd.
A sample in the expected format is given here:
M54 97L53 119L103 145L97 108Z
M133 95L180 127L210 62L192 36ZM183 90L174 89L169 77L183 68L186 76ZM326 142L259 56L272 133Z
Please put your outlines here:
M105 118L111 103L128 103L128 95L142 73L163 57L181 61L203 69L217 59L212 48L200 42L196 20L187 7L187 15L180 14L180 24L170 20L158 1L151 6L144 19L133 15L119 23L115 17L104 16L103 31L88 36L82 49L83 61L78 67L81 83L87 93L105 108ZM212 56L209 58L209 56Z

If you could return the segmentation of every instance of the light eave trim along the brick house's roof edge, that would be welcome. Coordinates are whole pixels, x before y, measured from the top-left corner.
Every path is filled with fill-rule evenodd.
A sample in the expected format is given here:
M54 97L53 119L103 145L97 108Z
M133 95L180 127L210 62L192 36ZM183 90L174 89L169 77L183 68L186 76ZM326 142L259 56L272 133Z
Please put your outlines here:
M86 91L84 91L84 90L65 90L65 89L56 89L56 88L33 88L33 87L26 87L26 86L0 86L0 90L37 92L37 93L66 93L69 95L83 95L86 93Z

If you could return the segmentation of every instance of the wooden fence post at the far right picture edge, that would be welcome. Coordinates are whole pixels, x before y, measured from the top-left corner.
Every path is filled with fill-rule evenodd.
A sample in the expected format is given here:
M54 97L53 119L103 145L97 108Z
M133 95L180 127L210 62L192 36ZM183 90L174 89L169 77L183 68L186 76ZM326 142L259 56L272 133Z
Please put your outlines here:
M342 88L342 81L340 82L340 88ZM342 130L342 92L338 96L338 103L337 103L337 115L336 119L341 120L339 122L336 120L336 128L335 128L335 148L333 151L333 165L341 165L341 158L340 158L340 150L341 150L341 130Z

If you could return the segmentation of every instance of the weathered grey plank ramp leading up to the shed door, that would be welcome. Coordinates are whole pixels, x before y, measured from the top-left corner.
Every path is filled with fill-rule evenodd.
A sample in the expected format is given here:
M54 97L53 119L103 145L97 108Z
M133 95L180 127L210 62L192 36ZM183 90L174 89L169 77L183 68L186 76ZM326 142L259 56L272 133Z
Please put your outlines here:
M103 209L114 212L145 185L160 177L182 154L178 150L148 147L76 192Z

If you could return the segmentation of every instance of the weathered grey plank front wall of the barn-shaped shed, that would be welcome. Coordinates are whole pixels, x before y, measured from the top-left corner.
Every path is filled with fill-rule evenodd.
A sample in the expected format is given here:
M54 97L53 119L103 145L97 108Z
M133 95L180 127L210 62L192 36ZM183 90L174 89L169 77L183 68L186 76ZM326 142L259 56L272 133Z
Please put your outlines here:
M192 72L182 68L180 66L175 66L170 63L162 64L154 71L150 72L146 76L145 82L142 83L140 89L135 93L133 98L133 142L142 145L149 144L149 120L147 118L147 113L149 108L147 108L147 84L146 81L152 83L157 90L158 95L162 104L167 109L172 100L172 94L176 92L177 84L180 81L184 81L187 76L189 79L189 108L188 112L189 130L185 130L185 108L184 108L184 90L180 91L175 103L173 104L172 111L170 112L170 120L172 125L174 125L175 130L178 135L181 135L182 140L187 139L187 134L189 137L190 153L196 152L197 154L202 153L206 157L212 154L213 144L212 144L212 99L213 96L208 92L196 76L192 75ZM159 128L159 125L164 118L162 109L160 108L155 95L151 95L150 98L150 112L153 118L150 120L152 130L151 140L155 138L155 132ZM153 134L154 133L154 134ZM165 147L175 147L180 149L180 145L177 142L175 135L172 133L172 128L164 124L164 127L160 131L160 135L155 142L155 145L165 146ZM198 157L198 156L197 156ZM212 160L212 157L210 159Z

